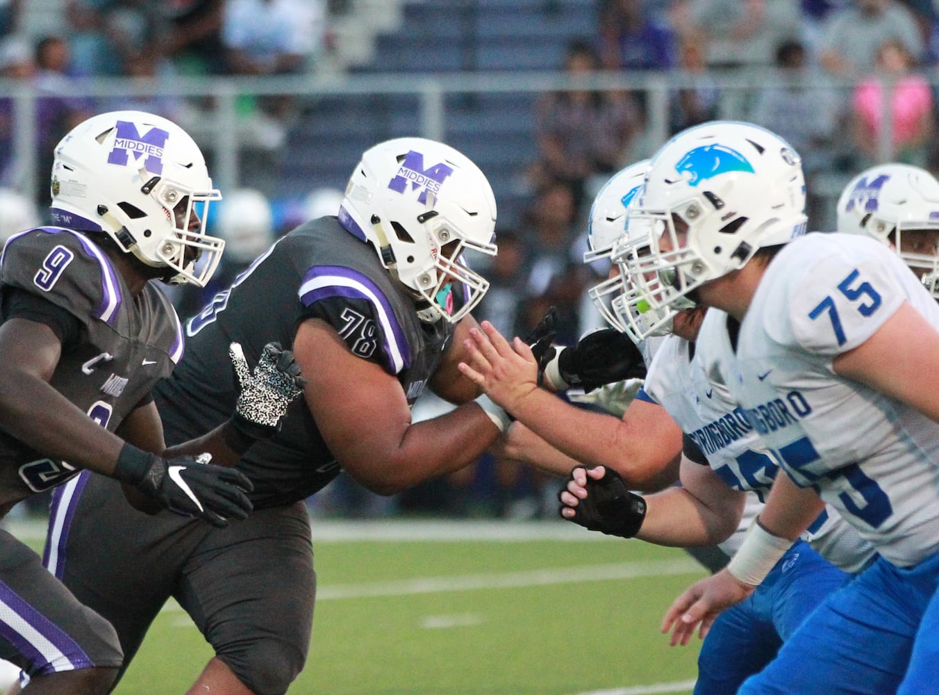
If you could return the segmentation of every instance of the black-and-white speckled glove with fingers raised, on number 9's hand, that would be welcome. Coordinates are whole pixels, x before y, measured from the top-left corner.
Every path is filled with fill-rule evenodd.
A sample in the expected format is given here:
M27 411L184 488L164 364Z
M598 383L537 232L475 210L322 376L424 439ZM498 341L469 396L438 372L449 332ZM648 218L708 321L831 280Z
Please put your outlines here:
M282 349L279 343L264 346L254 372L248 369L239 343L228 347L228 355L241 388L232 425L243 443L273 437L281 429L287 406L306 385L306 379L300 376L300 364L294 362L293 352Z

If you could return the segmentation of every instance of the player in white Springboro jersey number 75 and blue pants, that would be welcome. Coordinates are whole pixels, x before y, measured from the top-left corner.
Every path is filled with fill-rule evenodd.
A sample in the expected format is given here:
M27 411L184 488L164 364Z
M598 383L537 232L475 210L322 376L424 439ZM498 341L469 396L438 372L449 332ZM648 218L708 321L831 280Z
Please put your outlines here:
M713 307L704 363L786 472L728 567L679 596L662 629L672 643L699 625L706 634L828 502L879 557L739 692L929 692L939 682L939 307L883 244L804 235L797 157L788 147L765 157L756 128L711 122L676 135L637 210L662 229L634 269L661 281L647 310L668 316L688 297Z

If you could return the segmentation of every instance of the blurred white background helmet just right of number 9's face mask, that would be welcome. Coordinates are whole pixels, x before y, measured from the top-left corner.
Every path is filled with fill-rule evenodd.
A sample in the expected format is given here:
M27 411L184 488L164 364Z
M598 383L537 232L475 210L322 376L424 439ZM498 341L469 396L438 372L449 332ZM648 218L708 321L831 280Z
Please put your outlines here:
M268 197L254 188L226 193L216 218L225 241L225 261L244 265L274 242L274 215Z

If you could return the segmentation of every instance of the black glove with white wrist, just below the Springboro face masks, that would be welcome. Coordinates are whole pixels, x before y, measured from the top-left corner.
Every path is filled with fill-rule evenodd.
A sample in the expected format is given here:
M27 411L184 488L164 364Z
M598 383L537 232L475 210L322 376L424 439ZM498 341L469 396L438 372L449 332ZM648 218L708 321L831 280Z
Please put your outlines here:
M646 365L639 347L625 333L607 328L588 333L574 347L551 347L544 357L545 379L555 391L572 387L584 391L645 378Z

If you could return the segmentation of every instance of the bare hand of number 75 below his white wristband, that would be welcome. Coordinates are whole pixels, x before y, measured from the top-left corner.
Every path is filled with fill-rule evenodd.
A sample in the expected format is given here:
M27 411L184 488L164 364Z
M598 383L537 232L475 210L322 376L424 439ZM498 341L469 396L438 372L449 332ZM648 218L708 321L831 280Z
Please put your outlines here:
M701 579L671 604L662 621L662 632L671 631L671 646L687 644L696 628L703 640L721 610L740 603L753 593L754 588L736 579L726 569Z

